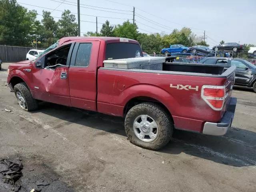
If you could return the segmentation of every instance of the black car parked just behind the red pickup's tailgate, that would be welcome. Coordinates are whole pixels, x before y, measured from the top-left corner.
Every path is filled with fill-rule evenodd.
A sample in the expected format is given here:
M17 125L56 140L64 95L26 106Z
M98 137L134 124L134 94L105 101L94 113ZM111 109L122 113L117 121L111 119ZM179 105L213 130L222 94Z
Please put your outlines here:
M256 66L243 59L233 58L204 58L200 61L202 64L223 64L236 66L235 85L252 87L256 92Z

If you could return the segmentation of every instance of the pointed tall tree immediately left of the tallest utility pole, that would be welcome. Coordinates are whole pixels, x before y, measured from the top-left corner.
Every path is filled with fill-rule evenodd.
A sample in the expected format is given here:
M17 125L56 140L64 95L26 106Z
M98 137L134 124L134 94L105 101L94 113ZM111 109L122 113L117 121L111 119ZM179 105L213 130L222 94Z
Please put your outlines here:
M78 24L75 22L76 16L71 14L70 10L64 10L61 19L58 21L57 37L70 37L78 35Z

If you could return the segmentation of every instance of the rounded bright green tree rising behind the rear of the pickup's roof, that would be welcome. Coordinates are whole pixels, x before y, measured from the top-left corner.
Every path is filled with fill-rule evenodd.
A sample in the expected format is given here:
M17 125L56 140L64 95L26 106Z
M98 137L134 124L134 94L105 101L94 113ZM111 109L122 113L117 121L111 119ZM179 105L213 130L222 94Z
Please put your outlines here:
M118 24L114 28L114 36L116 37L124 37L137 40L138 38L138 26L136 24L132 24L128 21L125 21L122 25Z

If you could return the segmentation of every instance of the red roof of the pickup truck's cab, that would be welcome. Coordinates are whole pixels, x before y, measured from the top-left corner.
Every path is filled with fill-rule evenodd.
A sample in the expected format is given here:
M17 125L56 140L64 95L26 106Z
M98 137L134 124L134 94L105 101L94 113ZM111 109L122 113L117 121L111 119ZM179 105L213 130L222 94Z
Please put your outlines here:
M128 38L120 38L120 37L64 37L59 40L59 45L64 44L69 41L76 40L104 40L106 43L114 43L114 42L129 42L139 44L137 41L128 39Z

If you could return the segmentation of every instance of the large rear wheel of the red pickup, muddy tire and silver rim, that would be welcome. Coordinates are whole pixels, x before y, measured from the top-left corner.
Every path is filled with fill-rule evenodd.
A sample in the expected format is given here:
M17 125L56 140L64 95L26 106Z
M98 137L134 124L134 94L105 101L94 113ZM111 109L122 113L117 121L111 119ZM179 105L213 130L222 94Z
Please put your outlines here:
M158 150L170 141L174 124L162 107L145 102L128 111L124 127L131 143L150 150Z

